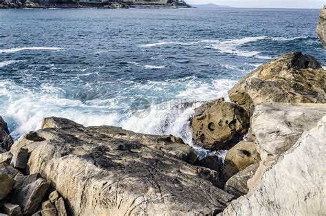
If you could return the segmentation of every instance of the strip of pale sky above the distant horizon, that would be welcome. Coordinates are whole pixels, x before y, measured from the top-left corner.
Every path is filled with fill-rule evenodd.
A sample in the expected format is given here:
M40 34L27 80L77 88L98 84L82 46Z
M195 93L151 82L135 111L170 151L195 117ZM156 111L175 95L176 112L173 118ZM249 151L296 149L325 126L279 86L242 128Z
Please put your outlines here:
M215 3L237 8L323 8L326 0L185 0L186 3Z

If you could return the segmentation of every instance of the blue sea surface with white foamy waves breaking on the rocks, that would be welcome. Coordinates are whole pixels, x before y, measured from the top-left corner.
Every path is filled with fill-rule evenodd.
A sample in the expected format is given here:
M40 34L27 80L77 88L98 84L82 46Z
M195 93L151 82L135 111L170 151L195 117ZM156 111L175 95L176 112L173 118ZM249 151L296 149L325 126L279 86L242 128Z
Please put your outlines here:
M319 10L0 10L0 115L12 136L45 116L173 134L286 52L326 63Z

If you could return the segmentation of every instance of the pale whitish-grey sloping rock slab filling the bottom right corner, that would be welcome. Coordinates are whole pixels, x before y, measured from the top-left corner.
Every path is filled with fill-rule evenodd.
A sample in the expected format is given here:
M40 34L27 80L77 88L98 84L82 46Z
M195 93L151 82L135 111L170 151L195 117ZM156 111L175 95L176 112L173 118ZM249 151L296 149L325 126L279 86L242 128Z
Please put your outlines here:
M223 215L325 215L326 116Z

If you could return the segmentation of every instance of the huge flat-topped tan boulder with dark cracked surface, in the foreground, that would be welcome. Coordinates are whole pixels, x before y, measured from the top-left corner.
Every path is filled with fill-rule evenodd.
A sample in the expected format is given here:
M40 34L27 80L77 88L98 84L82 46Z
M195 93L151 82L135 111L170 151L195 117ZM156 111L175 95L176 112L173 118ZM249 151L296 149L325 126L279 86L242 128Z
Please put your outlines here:
M30 173L52 182L69 215L213 215L234 198L215 186L216 171L192 165L197 153L173 136L62 118L45 118L32 133L11 151L30 151Z

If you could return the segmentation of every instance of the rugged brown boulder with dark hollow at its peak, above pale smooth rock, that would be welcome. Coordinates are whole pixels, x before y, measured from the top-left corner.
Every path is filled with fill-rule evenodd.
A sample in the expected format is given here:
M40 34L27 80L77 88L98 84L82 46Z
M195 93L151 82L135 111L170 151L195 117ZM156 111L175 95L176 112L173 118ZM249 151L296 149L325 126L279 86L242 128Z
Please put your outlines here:
M325 102L326 71L316 58L285 54L261 65L228 91L232 102L250 110L268 102Z

